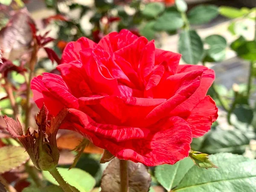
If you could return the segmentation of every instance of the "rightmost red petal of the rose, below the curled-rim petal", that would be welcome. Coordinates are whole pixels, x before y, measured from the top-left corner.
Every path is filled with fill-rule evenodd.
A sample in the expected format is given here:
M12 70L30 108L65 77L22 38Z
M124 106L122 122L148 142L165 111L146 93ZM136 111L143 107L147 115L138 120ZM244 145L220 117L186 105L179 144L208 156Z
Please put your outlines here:
M186 122L189 123L193 137L206 134L218 117L218 108L210 96L206 96L192 111Z

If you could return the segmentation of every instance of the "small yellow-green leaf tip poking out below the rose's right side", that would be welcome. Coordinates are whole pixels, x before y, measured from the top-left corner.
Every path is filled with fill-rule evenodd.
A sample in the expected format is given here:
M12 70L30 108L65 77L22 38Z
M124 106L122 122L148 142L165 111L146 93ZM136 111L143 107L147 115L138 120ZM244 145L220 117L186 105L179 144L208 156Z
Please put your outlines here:
M209 160L208 154L190 150L189 157L193 160L193 162L198 167L205 168L205 169L218 168Z

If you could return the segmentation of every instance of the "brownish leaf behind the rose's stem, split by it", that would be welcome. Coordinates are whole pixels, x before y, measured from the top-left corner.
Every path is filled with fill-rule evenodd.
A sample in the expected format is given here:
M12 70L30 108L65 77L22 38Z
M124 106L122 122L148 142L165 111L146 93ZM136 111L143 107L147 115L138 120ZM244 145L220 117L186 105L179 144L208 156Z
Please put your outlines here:
M142 163L128 161L129 192L148 192L151 176ZM120 191L119 159L111 160L102 174L102 192Z

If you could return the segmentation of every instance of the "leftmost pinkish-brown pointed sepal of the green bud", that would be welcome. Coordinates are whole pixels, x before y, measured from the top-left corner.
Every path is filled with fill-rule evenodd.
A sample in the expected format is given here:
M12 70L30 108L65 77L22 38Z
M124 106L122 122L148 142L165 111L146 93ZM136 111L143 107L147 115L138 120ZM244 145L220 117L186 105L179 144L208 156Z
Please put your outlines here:
M17 122L8 117L3 116L4 120L6 121L7 128L6 130L13 136L13 137L20 137L23 135L23 129L21 127L19 119L17 119Z

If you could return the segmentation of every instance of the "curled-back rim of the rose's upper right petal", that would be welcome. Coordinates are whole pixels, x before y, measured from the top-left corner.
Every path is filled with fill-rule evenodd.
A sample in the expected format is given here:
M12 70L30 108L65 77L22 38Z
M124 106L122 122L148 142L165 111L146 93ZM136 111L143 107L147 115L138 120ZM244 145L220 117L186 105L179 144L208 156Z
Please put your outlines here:
M215 79L214 70L199 65L179 65L177 73L184 73L192 70L203 70L201 84L186 102L183 102L174 111L172 111L173 115L179 114L178 116L180 116L184 113L192 111L192 109L194 109L198 103L204 99L209 87L211 87L212 82Z

